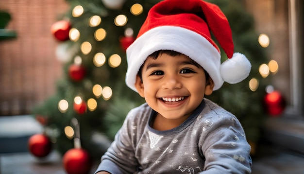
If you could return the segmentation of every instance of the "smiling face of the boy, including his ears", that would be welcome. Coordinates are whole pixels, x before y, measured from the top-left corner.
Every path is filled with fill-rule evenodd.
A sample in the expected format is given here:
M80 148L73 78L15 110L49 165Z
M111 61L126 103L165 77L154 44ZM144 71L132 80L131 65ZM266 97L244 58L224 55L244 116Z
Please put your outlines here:
M201 104L204 95L213 91L206 83L202 67L184 54L160 54L148 57L142 68L142 81L136 77L135 87L150 107L167 119L188 118Z

